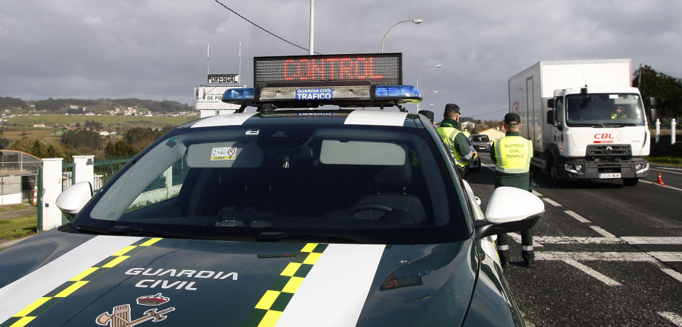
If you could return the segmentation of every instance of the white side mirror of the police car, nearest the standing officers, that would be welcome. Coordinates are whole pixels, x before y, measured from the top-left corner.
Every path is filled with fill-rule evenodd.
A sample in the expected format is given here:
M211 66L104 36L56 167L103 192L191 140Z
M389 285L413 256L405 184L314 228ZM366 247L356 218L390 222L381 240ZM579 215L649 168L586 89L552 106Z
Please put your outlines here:
M485 220L475 222L476 238L517 232L535 226L544 203L532 192L517 187L498 187L485 210Z

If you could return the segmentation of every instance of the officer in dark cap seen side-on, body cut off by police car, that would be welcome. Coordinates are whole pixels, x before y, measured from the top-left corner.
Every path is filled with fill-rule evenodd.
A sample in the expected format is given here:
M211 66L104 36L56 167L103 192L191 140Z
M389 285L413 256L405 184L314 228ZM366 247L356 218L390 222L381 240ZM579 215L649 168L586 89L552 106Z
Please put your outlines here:
M448 103L443 112L443 121L438 128L436 128L441 139L445 145L453 153L457 169L462 176L466 176L464 167L474 160L474 153L471 151L471 141L462 133L460 128L460 106L454 103Z

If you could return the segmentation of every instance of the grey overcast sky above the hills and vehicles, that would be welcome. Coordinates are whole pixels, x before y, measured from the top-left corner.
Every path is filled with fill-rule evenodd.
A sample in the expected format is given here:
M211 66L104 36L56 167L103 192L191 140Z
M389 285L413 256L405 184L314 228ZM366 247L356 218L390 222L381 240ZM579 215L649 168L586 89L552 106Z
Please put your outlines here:
M220 0L309 48L309 0ZM0 0L0 97L171 100L211 74L253 85L254 56L307 55L215 0ZM538 61L632 58L682 77L682 1L316 0L314 51L403 53L403 83L440 120L501 120L510 76ZM421 24L407 19L423 19ZM241 41L241 60L239 44ZM210 60L206 58L210 45ZM438 91L438 93L428 91ZM430 106L433 104L433 106ZM416 106L409 105L410 112Z

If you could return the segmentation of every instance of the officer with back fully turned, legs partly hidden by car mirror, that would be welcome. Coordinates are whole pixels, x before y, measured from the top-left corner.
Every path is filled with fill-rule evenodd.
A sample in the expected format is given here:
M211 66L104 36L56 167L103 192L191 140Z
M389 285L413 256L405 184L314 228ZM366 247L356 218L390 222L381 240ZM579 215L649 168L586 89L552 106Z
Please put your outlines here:
M517 187L530 192L535 183L530 175L530 158L533 158L533 142L526 140L519 132L521 117L514 112L505 115L504 137L493 142L490 158L495 163L495 188L500 186ZM533 253L533 233L530 229L521 231L521 256L525 267L535 265ZM507 234L497 235L497 251L503 268L509 267L509 243Z

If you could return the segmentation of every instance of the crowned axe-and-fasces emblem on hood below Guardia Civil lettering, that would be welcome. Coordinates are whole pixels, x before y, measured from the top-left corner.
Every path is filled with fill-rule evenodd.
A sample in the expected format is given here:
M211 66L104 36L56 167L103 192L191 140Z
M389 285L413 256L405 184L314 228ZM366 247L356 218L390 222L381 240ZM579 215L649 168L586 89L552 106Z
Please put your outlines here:
M155 304L145 304L145 303L140 303L140 299L143 299L143 301L147 301L146 299L152 299L150 301L154 301L153 299L156 300L163 300L163 301L158 301ZM156 295L148 295L148 296L140 296L137 299L137 303L140 305L161 305L163 303L167 303L170 301L170 298L162 296L161 293L157 293ZM152 322L158 322L162 321L168 317L166 315L168 312L174 311L174 307L170 308L165 308L161 311L156 308L148 309L145 310L145 313L142 317L135 319L135 320L130 320L131 317L131 308L130 304L123 304L123 305L116 305L111 309L111 313L109 312L104 312L102 315L99 315L97 319L95 319L95 322L99 326L110 326L110 327L122 327L122 326L136 326L139 324L142 324L145 321L151 320Z

